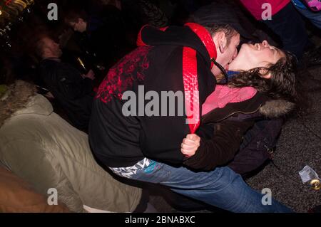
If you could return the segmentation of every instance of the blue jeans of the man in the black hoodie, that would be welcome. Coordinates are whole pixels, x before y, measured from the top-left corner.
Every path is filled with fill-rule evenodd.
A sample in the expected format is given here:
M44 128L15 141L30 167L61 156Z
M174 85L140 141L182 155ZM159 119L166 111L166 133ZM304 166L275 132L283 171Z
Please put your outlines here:
M194 172L185 167L176 168L151 161L148 167L138 169L131 179L163 184L178 194L232 212L292 212L274 199L271 205L263 205L265 194L251 189L239 174L228 167Z

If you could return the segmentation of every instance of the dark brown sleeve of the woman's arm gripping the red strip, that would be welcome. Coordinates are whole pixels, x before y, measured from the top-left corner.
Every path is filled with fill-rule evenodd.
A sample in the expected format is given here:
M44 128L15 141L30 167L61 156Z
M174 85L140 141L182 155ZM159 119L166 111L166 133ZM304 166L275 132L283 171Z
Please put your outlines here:
M205 171L226 164L233 159L243 140L243 134L253 122L225 121L215 124L212 139L200 139L200 147L193 157L183 164L192 169Z

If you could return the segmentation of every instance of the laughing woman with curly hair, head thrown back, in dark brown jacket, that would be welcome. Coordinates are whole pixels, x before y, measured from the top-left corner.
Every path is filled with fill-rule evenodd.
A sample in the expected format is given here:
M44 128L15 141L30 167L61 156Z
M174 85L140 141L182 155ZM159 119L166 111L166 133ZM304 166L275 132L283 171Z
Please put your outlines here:
M260 167L280 133L280 117L297 103L294 65L295 57L267 41L243 44L229 65L228 84L217 85L203 104L203 126L183 139L184 164L212 170L230 162L239 174ZM263 138L255 137L263 132Z

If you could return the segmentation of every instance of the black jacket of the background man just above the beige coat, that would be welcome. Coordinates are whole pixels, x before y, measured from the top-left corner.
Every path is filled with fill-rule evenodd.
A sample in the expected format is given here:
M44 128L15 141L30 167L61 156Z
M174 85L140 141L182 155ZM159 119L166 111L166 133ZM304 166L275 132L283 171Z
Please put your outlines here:
M93 103L91 80L83 79L81 73L71 65L54 59L42 60L39 73L71 124L87 131Z

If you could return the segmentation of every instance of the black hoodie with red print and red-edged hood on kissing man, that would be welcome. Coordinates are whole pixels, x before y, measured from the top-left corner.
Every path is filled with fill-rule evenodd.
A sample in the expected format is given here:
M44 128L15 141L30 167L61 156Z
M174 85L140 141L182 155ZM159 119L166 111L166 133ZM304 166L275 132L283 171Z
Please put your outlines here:
M145 46L136 48L113 66L98 89L89 127L91 148L108 167L131 167L144 157L181 165L184 157L180 144L191 132L185 112L178 115L178 106L185 100L183 75L197 76L194 83L198 85L199 98L195 99L198 103L195 108L201 110L202 103L215 88L215 77L210 71L210 59L216 58L213 39L202 26L189 24L163 30L145 26L138 41ZM184 51L194 55L186 55ZM143 91L139 85L143 85ZM128 103L122 99L126 91L137 97L128 98L137 107L131 110L136 116L126 117L123 112L123 104ZM149 117L141 112L138 101L149 91L156 92L160 99L162 91L180 92L184 100L179 105L176 102L175 107L161 105L156 110L160 115ZM146 100L145 104L149 102ZM175 116L170 116L174 109ZM142 114L138 115L139 112Z

